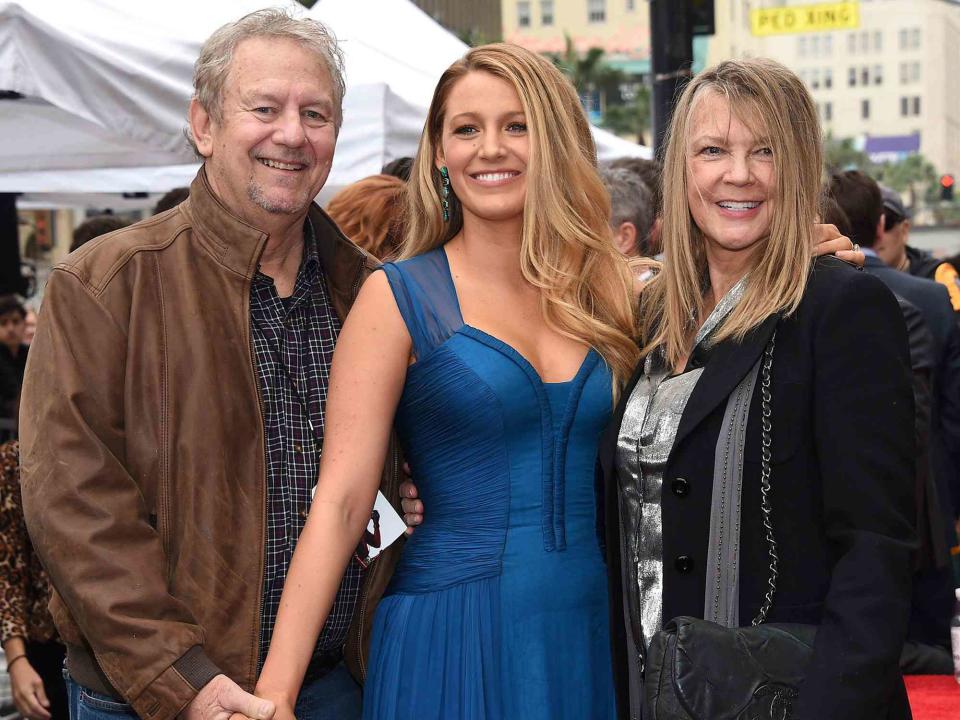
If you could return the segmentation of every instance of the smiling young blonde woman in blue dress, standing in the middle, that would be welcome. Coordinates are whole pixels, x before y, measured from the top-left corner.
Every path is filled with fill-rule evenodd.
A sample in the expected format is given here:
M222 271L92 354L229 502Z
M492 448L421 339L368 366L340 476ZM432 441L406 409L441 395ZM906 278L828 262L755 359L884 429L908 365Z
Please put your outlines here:
M573 87L532 52L476 48L440 79L404 259L367 281L337 343L257 688L281 720L394 421L429 514L377 609L364 717L614 716L594 468L638 351L594 152Z

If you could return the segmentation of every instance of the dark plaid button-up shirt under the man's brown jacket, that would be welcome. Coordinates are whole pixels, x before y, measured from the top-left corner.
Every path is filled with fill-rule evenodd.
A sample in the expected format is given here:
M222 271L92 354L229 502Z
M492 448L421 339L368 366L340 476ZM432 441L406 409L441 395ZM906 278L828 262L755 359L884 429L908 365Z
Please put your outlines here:
M287 568L306 523L317 482L327 383L334 343L340 332L309 220L304 228L303 261L293 294L281 299L273 280L257 272L250 288L250 320L266 435L262 667ZM360 594L361 573L357 561L351 560L320 633L318 654L344 644Z

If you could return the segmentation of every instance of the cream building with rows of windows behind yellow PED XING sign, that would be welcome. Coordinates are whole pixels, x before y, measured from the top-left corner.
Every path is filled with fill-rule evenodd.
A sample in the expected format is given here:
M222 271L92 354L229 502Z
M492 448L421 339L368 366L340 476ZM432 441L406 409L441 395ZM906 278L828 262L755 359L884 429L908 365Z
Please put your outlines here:
M751 10L809 0L716 0L708 63L771 57L810 88L824 130L854 138L875 161L920 152L960 174L960 5L945 0L861 0L856 27L761 35Z

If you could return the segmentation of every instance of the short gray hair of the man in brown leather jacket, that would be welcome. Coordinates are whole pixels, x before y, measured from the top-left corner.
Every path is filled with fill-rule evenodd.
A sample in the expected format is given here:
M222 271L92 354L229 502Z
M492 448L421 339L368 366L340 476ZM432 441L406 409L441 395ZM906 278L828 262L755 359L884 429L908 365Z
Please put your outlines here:
M308 17L296 17L285 8L265 8L245 15L216 30L200 49L193 66L193 96L215 121L222 120L223 86L230 71L233 53L251 38L286 38L300 43L323 61L333 85L334 122L337 131L343 122L343 53L333 32L323 23ZM196 150L189 128L187 139Z

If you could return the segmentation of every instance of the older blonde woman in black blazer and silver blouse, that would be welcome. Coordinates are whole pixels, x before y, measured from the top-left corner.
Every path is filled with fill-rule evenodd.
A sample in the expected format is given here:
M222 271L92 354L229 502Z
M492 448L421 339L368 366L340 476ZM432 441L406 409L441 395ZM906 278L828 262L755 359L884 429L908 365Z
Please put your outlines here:
M684 91L665 160L666 259L641 297L643 361L601 447L621 714L639 710L644 653L667 620L758 615L772 437L767 619L818 626L790 717L909 717L897 667L913 543L906 334L881 283L811 262L814 103L777 63L721 63ZM738 532L721 547L723 522Z

